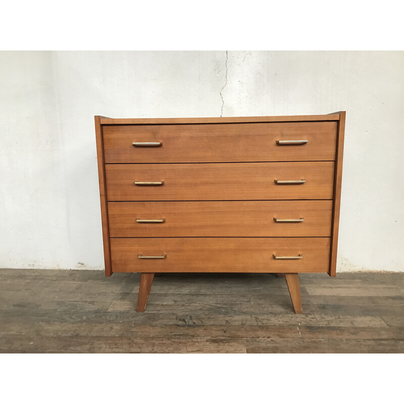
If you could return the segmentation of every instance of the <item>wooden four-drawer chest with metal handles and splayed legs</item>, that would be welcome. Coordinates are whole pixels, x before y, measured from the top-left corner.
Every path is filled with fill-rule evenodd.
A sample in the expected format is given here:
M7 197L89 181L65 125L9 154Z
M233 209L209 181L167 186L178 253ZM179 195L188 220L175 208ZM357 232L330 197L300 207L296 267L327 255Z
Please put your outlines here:
M345 112L111 119L95 132L106 276L161 272L335 276Z

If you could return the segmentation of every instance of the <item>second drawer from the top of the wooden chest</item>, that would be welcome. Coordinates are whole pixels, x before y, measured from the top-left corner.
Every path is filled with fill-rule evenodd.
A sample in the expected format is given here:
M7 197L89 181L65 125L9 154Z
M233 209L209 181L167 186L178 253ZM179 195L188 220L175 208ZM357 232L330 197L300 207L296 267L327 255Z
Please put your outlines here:
M105 172L108 200L332 199L334 162L106 164Z

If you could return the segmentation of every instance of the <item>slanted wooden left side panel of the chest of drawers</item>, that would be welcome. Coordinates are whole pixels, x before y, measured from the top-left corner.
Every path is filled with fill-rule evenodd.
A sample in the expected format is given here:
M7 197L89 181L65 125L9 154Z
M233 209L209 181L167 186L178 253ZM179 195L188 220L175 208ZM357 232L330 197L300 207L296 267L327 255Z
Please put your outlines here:
M95 139L97 146L97 165L99 180L99 199L101 205L101 221L103 226L103 246L104 246L104 264L105 275L111 276L111 252L110 252L110 234L108 228L108 205L107 205L107 185L105 177L105 160L104 160L104 142L103 128L100 125L100 116L95 116Z

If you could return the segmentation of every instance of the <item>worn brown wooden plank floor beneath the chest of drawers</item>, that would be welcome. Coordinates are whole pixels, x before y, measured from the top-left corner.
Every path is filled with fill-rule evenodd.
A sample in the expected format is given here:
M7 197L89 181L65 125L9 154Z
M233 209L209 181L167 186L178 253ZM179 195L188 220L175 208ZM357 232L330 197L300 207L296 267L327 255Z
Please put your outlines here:
M404 352L404 273L285 278L0 270L0 352Z

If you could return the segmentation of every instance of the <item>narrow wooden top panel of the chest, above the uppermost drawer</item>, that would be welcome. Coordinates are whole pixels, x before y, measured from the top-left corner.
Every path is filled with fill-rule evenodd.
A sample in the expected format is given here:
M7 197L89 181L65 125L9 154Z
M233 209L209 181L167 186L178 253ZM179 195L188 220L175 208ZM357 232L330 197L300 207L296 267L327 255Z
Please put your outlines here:
M339 121L340 112L328 115L290 115L272 117L205 117L205 118L107 118L99 117L101 125L139 124L198 124L198 123L252 123L252 122L307 122Z

